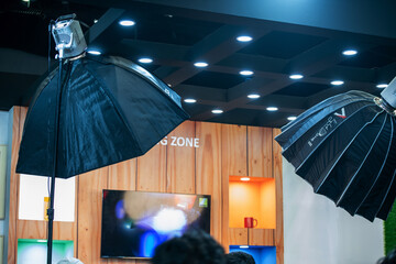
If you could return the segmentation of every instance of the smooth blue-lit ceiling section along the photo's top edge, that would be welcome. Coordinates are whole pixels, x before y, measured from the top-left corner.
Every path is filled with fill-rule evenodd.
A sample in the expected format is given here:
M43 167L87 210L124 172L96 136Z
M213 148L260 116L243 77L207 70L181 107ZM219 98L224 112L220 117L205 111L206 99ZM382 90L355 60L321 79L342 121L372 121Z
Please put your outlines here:
M394 1L364 1L362 3L360 0L167 0L164 3L163 0L141 0L140 2L385 37L396 35L394 15L396 3Z

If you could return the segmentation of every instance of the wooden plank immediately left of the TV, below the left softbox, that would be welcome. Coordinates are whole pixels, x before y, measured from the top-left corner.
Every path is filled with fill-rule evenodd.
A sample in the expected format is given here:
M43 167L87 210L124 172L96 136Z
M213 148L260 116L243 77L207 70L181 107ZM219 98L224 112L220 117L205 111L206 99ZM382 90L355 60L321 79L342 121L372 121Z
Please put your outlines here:
M82 263L107 263L100 258L101 200L109 168L81 174L78 188L78 258Z

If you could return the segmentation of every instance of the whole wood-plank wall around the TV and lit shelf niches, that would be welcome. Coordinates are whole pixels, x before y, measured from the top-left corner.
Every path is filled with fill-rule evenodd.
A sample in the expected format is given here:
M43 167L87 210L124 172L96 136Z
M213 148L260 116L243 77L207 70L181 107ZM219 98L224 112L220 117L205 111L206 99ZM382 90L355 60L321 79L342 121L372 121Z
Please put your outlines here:
M18 151L26 109L13 110L11 205L8 263L16 263L18 239L45 239L46 222L18 220ZM148 263L100 258L102 189L211 195L211 234L228 251L229 244L276 245L283 264L283 198L278 130L186 121L145 155L76 177L76 220L55 222L54 238L75 241L75 256L86 264ZM175 146L177 138L199 139L199 147ZM276 229L229 228L229 176L273 177L276 185ZM248 241L249 240L249 241Z

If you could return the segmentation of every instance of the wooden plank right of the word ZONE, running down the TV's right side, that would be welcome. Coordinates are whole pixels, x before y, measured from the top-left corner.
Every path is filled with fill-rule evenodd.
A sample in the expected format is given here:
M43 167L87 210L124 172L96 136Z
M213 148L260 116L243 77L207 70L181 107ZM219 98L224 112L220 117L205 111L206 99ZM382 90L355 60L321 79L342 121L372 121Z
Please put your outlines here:
M210 233L221 242L222 190L221 190L221 124L197 122L196 148L197 194L211 196Z

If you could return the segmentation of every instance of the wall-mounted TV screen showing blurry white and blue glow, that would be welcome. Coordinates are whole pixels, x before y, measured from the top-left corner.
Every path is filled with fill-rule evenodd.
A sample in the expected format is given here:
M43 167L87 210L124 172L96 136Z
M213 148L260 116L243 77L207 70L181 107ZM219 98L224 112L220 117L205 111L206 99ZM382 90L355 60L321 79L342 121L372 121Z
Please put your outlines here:
M210 196L103 190L101 257L152 257L189 229L210 233Z

